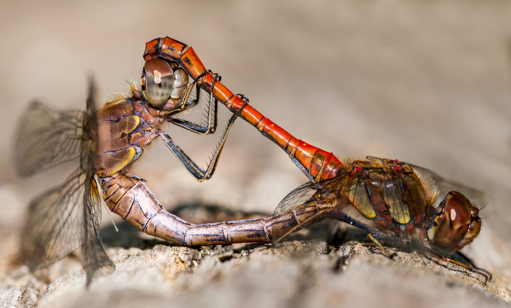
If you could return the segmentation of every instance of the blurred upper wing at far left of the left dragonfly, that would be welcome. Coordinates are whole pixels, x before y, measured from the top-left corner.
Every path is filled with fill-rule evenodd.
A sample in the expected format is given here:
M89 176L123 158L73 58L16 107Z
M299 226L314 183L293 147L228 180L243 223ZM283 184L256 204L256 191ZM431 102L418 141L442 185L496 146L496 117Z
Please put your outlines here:
M80 157L84 115L83 111L55 111L33 102L17 128L18 174L29 176Z

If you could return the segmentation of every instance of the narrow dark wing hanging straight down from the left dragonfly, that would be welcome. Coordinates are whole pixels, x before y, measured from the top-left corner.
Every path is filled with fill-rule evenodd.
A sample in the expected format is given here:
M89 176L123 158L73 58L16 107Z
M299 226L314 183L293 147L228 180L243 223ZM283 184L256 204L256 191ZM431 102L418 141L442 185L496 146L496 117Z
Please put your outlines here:
M85 184L84 206L83 206L83 229L86 239L82 246L82 265L87 273L87 283L92 275L106 266L109 271L115 266L106 255L103 240L99 232L101 225L101 200L98 191L98 183L92 177Z

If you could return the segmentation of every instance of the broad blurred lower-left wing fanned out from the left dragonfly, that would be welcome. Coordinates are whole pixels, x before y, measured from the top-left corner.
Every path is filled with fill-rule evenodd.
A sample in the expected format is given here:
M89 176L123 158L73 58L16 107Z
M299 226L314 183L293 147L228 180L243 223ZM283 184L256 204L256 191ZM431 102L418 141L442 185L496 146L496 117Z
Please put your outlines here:
M85 179L78 169L30 203L21 254L31 270L47 267L82 245Z

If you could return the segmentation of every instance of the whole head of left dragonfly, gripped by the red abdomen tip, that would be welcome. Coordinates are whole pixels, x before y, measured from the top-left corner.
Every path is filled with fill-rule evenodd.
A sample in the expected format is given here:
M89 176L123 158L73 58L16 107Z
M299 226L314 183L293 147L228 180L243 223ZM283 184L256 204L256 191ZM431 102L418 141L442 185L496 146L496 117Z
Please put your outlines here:
M169 111L179 105L184 91L187 89L188 75L177 63L169 63L163 59L149 59L142 70L142 93L146 100L155 108Z

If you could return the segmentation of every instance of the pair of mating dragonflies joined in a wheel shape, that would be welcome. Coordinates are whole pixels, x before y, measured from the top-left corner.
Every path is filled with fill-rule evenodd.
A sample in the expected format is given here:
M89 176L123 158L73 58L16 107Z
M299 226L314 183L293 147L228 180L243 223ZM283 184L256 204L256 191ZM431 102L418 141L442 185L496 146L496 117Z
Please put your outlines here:
M431 256L479 273L485 281L491 278L459 253L478 235L481 218L479 208L457 191L472 200L480 198L479 192L398 160L367 157L341 162L271 122L206 70L190 46L170 37L148 42L144 59L141 88L129 84L129 95L101 108L95 104L91 82L85 112L54 111L35 102L22 115L16 143L20 175L80 158L80 167L61 186L29 206L21 252L31 269L48 266L80 246L88 281L98 269L112 269L99 232L104 201L109 210L143 232L180 245L280 241L299 227L330 218L367 231L388 256L381 241L416 242ZM208 97L204 123L179 119L180 112L199 105L202 91ZM161 125L214 133L218 101L233 116L203 169ZM210 178L237 117L280 146L309 179L281 201L273 216L190 224L165 210L145 181L128 173L144 149L161 137L195 179Z

